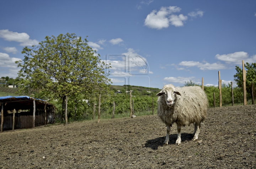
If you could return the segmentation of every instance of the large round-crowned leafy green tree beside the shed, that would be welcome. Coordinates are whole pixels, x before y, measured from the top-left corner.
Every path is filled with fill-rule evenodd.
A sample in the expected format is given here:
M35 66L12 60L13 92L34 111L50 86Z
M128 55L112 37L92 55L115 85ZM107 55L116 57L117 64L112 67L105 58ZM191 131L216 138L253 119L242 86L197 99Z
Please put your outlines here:
M105 74L108 65L102 62L100 55L75 34L60 34L57 37L45 37L45 41L32 48L25 47L23 63L17 61L20 91L28 93L37 90L44 95L54 94L62 100L62 112L67 119L68 97L83 93L89 95L102 91L110 80Z

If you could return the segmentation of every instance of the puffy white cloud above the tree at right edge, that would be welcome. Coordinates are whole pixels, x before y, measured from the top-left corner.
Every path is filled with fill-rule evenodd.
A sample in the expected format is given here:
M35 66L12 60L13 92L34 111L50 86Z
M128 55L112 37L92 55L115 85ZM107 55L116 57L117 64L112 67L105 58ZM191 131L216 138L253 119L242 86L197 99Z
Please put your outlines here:
M242 60L244 60L245 63L256 62L256 55L249 57L247 52L235 52L222 55L217 54L215 58L222 60L228 64L242 64Z

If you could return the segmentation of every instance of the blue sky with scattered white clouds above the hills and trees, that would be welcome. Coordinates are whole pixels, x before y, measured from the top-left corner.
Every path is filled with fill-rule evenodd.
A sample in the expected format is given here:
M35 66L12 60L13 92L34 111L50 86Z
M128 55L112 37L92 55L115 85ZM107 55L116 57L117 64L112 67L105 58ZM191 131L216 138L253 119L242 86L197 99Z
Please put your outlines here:
M111 63L113 84L162 88L234 81L256 62L256 1L0 1L0 77L17 77L22 48L75 33Z

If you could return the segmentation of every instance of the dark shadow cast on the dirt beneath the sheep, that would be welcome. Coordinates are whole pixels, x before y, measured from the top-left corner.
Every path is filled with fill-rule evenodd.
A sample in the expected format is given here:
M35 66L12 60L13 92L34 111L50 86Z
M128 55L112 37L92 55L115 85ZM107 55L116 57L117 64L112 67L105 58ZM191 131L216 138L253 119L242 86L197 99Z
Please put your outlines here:
M193 135L190 133L182 133L181 134L181 143L185 141L192 141ZM169 145L175 144L177 140L177 134L170 134L169 135ZM159 137L152 140L146 141L145 147L150 147L153 150L158 150L159 146L163 146L163 143L165 141L165 137Z

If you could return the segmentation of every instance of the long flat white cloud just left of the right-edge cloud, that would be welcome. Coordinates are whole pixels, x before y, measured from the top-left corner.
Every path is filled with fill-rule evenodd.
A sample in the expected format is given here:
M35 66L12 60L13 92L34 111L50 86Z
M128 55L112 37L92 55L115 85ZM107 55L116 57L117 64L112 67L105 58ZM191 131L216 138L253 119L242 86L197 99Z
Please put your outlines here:
M192 67L196 66L200 70L220 70L220 69L226 69L226 66L221 63L200 63L200 62L194 62L194 61L182 61L178 65L180 66L186 66L186 67Z

